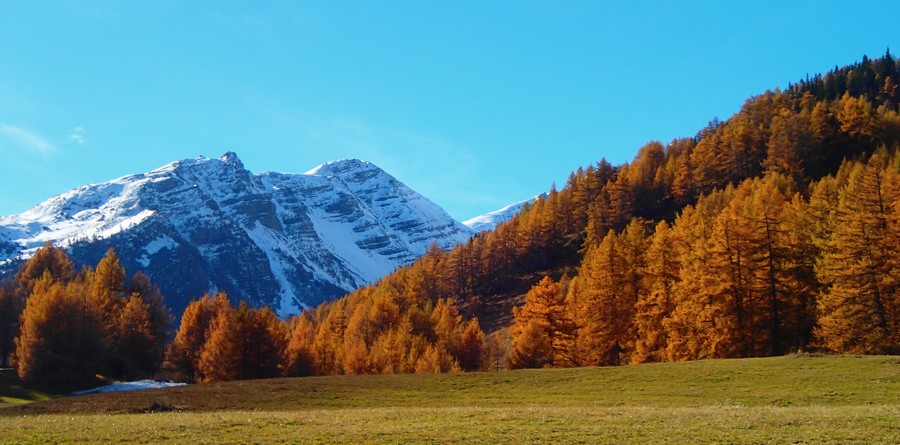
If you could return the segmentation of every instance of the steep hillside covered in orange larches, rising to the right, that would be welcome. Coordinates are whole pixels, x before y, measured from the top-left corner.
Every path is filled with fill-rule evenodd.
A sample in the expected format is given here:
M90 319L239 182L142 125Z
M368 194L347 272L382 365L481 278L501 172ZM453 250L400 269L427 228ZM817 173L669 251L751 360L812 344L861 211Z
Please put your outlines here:
M493 232L307 313L319 372L411 370L378 351L435 340L420 320L447 305L497 331L492 363L511 324L513 367L898 352L897 74L889 52L863 58L579 168ZM422 354L405 341L394 354Z

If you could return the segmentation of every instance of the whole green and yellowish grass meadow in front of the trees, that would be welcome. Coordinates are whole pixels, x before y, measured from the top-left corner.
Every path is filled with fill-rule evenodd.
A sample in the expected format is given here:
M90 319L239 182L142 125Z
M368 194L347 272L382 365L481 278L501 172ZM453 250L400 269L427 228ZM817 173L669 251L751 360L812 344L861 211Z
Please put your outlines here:
M900 443L900 358L336 376L0 409L2 443Z

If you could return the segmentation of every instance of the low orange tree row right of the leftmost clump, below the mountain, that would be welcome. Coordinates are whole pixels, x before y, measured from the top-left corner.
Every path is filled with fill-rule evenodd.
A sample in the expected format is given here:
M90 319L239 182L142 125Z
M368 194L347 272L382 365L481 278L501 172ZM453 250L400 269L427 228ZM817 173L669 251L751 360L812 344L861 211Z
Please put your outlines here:
M486 369L487 347L477 320L464 322L449 300L382 291L284 321L217 293L188 305L167 361L191 382L436 373Z

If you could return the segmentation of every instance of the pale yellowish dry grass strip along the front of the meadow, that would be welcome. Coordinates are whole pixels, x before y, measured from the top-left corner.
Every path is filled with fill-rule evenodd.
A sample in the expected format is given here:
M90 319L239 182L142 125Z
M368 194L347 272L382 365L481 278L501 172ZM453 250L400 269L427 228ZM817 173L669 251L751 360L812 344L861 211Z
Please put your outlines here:
M5 419L2 443L900 443L875 407L357 408Z

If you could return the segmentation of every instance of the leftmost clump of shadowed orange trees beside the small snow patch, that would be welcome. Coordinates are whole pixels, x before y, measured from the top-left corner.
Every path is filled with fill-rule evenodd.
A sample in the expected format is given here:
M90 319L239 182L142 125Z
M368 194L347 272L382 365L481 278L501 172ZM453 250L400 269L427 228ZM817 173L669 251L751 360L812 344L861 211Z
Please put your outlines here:
M0 285L0 309L3 367L51 389L154 375L172 323L159 289L140 272L126 277L111 249L76 271L51 244Z

